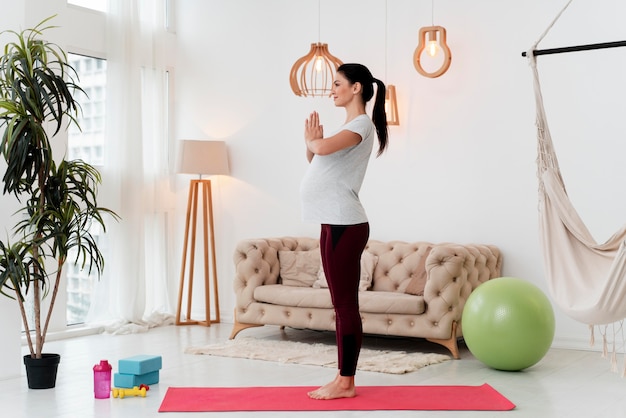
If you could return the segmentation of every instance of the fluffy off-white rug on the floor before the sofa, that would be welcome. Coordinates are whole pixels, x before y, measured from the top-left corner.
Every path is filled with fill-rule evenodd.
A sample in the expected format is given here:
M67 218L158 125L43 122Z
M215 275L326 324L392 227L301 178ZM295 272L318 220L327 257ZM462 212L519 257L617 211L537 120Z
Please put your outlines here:
M337 347L329 344L306 344L294 341L263 340L238 337L220 344L189 347L188 354L237 357L256 360L337 367ZM404 374L431 364L450 360L450 356L434 353L362 349L358 370Z

